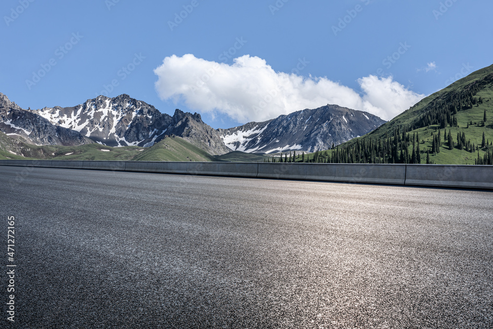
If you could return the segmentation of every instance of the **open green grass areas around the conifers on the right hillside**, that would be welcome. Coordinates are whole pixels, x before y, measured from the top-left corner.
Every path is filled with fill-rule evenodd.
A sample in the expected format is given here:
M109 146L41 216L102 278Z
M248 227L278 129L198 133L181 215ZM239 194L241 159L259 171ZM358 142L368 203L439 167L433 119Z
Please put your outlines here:
M352 139L351 141L342 144L342 146L350 146L354 144L356 140L362 140L363 138L378 139L385 136L386 132L391 136L395 127L411 124L411 122L413 122L414 119L419 117L421 114L425 113L428 105L433 100L444 97L449 92L461 90L465 86L473 83L476 80L482 79L485 75L490 73L493 73L493 65L481 69L479 71L476 71L474 73L471 73L465 78L462 78L454 82L450 86L424 98L422 101L420 101L418 104L413 106L411 109L406 110L402 114L399 114L389 122L383 124L376 130L374 130L373 132L364 135L362 137ZM487 140L489 139L490 142L493 141L493 89L487 86L486 88L484 88L483 90L481 90L475 95L475 98L479 99L479 97L483 98L484 100L483 104L474 106L472 109L458 111L456 115L458 126L459 126L458 128L450 127L450 126L446 128L447 131L449 129L451 130L452 137L456 144L457 144L458 132L465 133L466 140L470 140L471 143L474 143L476 145L478 144L481 145L483 139L483 132L485 133L485 137ZM481 122L483 120L484 110L486 110L487 118L488 118L486 127L477 127L476 125L472 125L469 126L469 128L466 128L467 123L470 121L472 121L473 123ZM428 147L431 147L433 141L431 137L431 132L433 132L433 134L436 134L438 132L438 126L435 125L435 126L419 128L411 131L410 133L413 134L415 132L419 133L420 140L424 140L424 143L420 145L420 148L422 152L423 151L425 152L428 149ZM443 142L444 140L443 130L441 130L441 134L442 134L442 142ZM411 146L409 150L411 153L412 152ZM485 154L483 150L480 150L479 153L481 157L483 157L483 155ZM431 155L430 159L431 161L433 161L433 163L436 164L474 164L474 159L476 159L477 156L478 156L478 152L470 153L465 150L459 150L457 148L454 148L453 150L449 150L447 146L442 145L442 147L440 148L440 153ZM310 158L312 157L313 155L310 155ZM422 163L425 163L425 161L426 161L426 154L422 153Z

